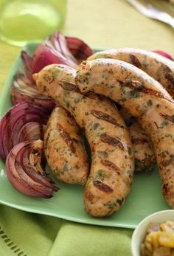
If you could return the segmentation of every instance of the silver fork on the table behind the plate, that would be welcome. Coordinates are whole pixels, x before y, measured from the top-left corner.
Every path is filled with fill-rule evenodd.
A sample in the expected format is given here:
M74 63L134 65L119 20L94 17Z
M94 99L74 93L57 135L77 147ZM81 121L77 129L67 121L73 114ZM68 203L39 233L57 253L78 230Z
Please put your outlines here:
M137 0L127 0L133 7L136 8L140 13L147 16L148 18L153 18L162 21L174 28L174 18L169 14L165 13L163 10L156 8L149 1L144 1L141 4Z

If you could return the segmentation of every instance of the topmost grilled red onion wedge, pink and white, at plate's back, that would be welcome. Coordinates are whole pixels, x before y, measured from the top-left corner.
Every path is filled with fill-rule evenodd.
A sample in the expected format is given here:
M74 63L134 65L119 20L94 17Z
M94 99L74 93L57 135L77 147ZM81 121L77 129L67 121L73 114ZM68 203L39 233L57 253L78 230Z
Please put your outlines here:
M55 32L38 45L33 57L22 51L21 59L27 77L32 80L32 74L44 66L58 63L76 67L77 63L93 54L93 50L79 38L64 37L60 32Z

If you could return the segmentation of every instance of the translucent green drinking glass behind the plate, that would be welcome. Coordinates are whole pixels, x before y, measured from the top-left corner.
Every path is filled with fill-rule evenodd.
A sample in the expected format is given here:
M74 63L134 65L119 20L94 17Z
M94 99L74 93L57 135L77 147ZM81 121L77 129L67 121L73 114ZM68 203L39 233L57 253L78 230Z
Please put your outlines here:
M66 0L4 0L0 4L0 38L17 46L61 31L66 18Z

